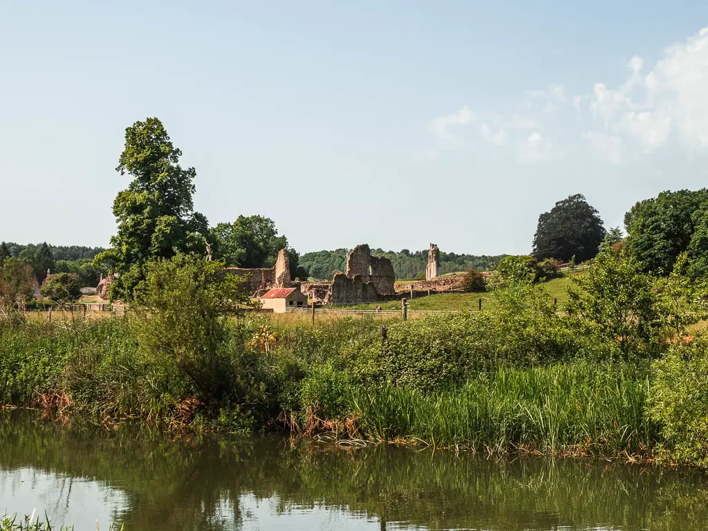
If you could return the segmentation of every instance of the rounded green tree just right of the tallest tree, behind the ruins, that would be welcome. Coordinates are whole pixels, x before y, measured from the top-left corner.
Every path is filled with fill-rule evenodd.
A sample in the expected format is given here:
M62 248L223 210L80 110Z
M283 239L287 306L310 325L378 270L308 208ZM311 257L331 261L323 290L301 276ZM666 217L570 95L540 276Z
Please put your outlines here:
M210 229L215 258L239 268L272 267L287 238L278 236L275 222L263 216L239 216L233 223L219 223Z

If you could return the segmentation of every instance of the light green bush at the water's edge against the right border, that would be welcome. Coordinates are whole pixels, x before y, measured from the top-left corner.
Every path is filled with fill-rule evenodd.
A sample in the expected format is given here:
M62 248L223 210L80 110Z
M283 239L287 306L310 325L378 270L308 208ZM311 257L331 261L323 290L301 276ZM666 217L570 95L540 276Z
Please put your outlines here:
M708 338L679 343L652 365L649 417L670 458L708 466Z

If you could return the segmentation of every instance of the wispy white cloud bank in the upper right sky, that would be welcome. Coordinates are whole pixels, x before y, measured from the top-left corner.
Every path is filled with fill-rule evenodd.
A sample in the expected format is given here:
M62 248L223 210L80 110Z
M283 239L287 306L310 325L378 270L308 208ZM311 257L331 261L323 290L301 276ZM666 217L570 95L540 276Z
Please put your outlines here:
M462 147L453 126L479 120L479 139L513 148L520 159L542 161L563 153L587 154L612 164L680 142L708 147L708 28L672 45L652 67L641 57L612 86L601 81L569 95L562 84L524 91L523 100L501 113L476 115L464 105L435 118L431 128L447 147ZM573 147L573 149L566 149Z

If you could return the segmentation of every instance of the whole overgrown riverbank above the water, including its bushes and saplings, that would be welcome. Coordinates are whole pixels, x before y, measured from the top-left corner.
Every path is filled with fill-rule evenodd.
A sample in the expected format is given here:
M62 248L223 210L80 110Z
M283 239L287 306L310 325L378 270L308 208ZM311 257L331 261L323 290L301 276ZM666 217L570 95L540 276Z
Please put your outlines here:
M125 316L0 321L0 404L237 433L334 430L707 464L708 343L679 333L699 314L657 314L668 299L639 272L621 270L636 302L593 299L589 285L566 314L534 285L512 283L491 293L486 312L311 324L234 318L218 265L156 267L144 307ZM617 300L636 305L629 319L612 321Z

